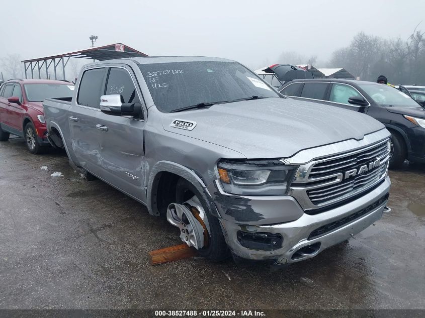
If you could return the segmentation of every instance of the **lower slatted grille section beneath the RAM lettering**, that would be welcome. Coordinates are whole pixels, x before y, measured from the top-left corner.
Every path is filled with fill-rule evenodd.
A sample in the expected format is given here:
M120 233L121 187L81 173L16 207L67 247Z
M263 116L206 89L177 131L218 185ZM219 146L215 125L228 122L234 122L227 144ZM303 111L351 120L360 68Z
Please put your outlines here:
M378 181L386 171L386 165L381 165L363 174L349 178L336 185L328 185L313 190L308 190L307 195L314 205L321 205L335 198L344 198L360 192L362 189Z

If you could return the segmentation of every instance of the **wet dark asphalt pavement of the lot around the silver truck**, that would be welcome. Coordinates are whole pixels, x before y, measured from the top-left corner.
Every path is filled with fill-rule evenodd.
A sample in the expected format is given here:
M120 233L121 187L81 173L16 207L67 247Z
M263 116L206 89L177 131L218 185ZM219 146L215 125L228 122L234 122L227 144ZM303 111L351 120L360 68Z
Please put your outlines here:
M270 272L203 258L151 266L149 251L180 239L142 204L20 138L0 143L0 163L0 308L425 308L423 166L390 172L392 212L376 226Z

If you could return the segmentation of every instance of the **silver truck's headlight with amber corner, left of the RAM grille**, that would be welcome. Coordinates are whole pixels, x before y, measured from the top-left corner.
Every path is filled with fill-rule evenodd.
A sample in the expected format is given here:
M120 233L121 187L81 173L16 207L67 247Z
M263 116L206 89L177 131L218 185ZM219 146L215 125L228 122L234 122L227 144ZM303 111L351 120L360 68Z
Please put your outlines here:
M298 166L279 160L222 160L218 174L224 191L240 195L283 195Z

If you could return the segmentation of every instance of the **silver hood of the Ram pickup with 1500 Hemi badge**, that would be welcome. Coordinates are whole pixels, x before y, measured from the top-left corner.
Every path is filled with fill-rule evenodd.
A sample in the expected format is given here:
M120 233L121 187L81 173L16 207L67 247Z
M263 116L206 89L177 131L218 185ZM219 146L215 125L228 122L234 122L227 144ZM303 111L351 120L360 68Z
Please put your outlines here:
M185 130L176 120L196 122ZM189 124L190 125L190 124ZM384 125L372 117L291 98L265 98L165 114L163 129L230 148L246 158L285 158L302 149L363 139Z

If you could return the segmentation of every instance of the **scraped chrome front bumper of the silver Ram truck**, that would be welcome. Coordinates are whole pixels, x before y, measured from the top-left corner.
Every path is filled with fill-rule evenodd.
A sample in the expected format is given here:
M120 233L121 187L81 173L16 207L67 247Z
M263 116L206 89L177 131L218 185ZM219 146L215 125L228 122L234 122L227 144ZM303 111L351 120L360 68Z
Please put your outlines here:
M363 231L372 223L379 220L387 204L386 196L390 188L390 179L387 176L376 188L363 196L344 205L331 208L316 215L302 214L295 221L273 224L252 225L240 224L234 220L219 218L223 233L230 250L239 257L254 260L273 260L280 264L298 262L316 256L324 249L344 242L355 234ZM383 198L383 201L380 199ZM379 202L378 206L373 203ZM266 203L266 202L265 202ZM258 205L257 205L258 206ZM267 204L265 205L267 207ZM323 235L311 237L314 230L318 230L342 219L349 219L353 214L368 207L373 208L357 219L343 224ZM281 211L282 214L291 211ZM270 233L280 235L283 239L281 247L274 250L246 248L241 245L238 232L243 233ZM317 232L316 232L317 233ZM309 239L310 238L310 239Z

